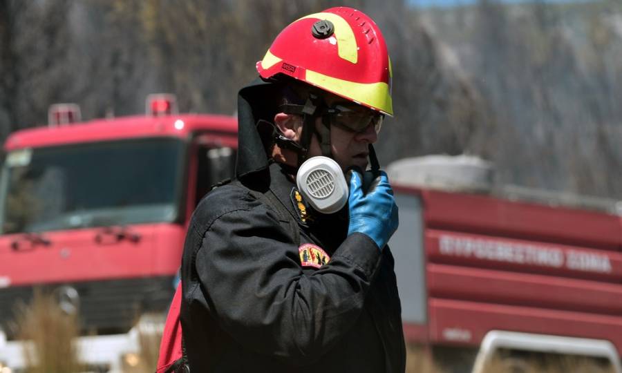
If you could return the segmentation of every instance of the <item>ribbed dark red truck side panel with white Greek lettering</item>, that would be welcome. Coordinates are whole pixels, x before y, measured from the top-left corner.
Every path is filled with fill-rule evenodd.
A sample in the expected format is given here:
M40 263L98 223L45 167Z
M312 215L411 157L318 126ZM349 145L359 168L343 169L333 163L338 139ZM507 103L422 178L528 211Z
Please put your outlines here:
M427 315L405 325L407 339L478 346L507 330L603 339L622 352L619 216L395 189L422 204Z

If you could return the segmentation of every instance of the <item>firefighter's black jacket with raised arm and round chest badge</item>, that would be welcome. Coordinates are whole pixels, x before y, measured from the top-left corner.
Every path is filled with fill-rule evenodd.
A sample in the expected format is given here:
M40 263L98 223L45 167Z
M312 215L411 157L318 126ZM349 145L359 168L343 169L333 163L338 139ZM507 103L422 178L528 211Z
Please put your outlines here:
M269 170L265 184L299 222L301 243L330 260L303 267L291 220L247 188L211 191L191 220L182 259L191 371L404 372L390 249L380 253L361 233L346 238L343 214L303 223L294 185L278 164Z

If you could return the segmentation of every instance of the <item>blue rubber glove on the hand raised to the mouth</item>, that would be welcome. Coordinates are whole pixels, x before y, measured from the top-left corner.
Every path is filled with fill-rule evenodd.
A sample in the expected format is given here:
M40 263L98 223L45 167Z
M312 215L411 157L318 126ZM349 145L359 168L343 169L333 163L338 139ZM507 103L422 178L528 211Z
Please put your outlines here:
M380 171L380 175L372 182L366 194L361 188L361 174L352 172L348 209L350 210L348 236L356 232L363 233L374 240L380 250L384 248L399 225L393 189L384 171Z

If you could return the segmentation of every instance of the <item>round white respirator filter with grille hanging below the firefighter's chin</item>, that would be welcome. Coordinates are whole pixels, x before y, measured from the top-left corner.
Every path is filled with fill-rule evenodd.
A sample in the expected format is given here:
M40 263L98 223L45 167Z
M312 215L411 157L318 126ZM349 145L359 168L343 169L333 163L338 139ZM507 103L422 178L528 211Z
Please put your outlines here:
M329 157L310 157L298 169L296 185L305 201L320 213L336 213L348 202L341 167Z

